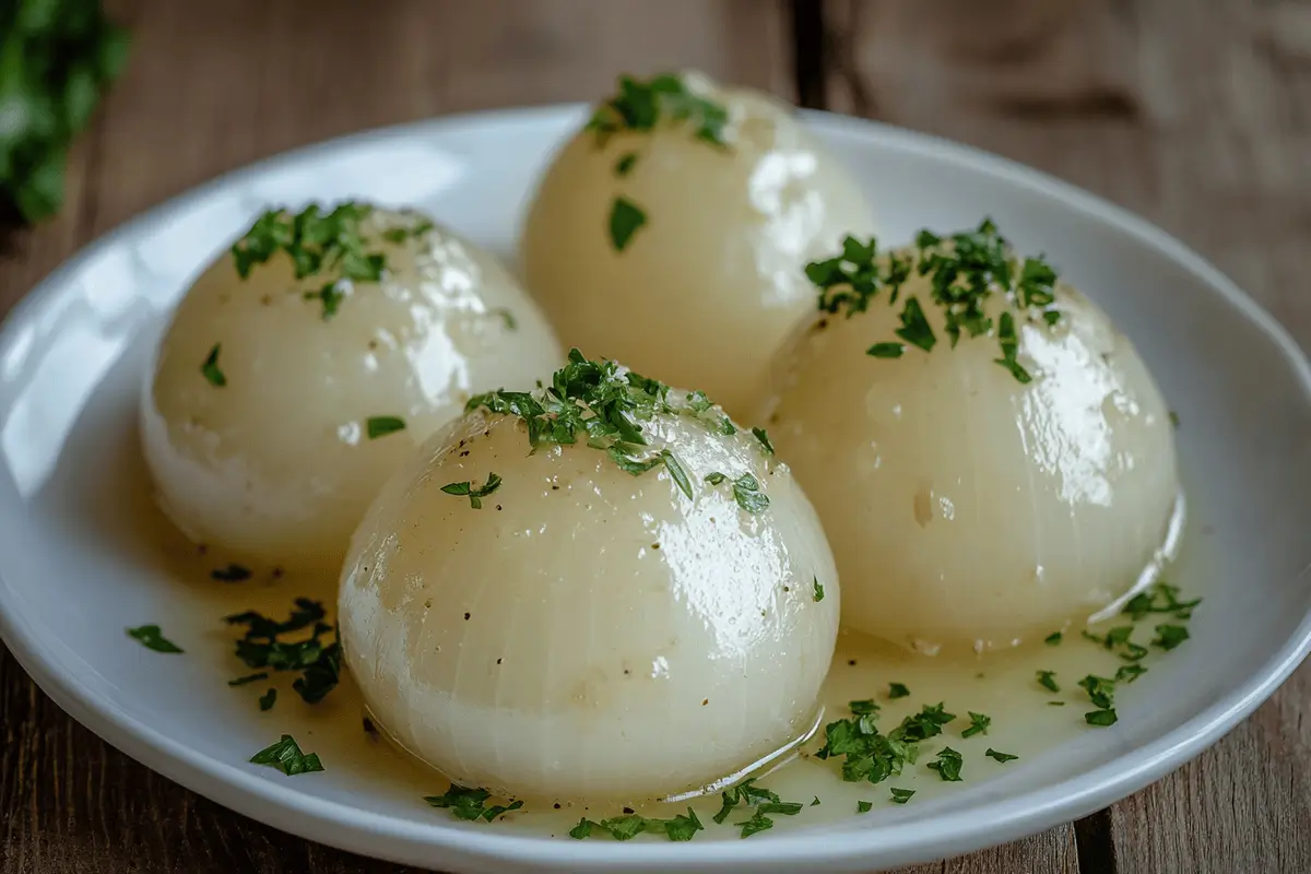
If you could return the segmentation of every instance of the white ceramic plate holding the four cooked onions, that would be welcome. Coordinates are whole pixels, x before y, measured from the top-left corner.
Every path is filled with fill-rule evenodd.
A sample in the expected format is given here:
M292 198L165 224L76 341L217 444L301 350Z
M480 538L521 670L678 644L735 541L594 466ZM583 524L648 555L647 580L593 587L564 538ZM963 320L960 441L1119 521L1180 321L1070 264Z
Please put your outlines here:
M459 871L868 871L973 850L1082 816L1214 743L1311 645L1311 370L1217 270L1143 221L998 157L808 114L881 207L888 237L991 214L1046 252L1133 338L1179 413L1193 512L1176 582L1203 594L1183 658L1154 668L1113 729L910 808L747 841L570 841L460 823L342 763L288 780L246 764L277 721L223 687L220 638L164 658L123 629L186 632L202 604L148 561L136 392L190 276L269 202L413 203L507 254L519 211L581 107L368 132L265 161L148 212L41 284L0 332L0 633L37 683L111 744L278 828ZM180 628L181 626L181 628ZM212 658L207 654L212 653ZM282 706L282 705L279 705ZM287 712L291 714L292 712ZM307 744L308 748L309 744ZM444 786L433 786L440 791Z

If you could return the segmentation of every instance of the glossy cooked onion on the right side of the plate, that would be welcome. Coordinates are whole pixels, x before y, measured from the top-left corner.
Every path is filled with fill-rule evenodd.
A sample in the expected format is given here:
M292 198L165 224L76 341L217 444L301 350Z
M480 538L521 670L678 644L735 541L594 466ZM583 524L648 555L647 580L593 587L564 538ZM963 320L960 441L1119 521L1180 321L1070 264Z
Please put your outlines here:
M981 651L1082 622L1160 560L1180 486L1168 410L1129 339L1057 286L1059 324L1016 318L899 359L902 305L815 313L775 360L762 421L814 502L843 580L843 624L922 651ZM994 325L1006 305L988 297Z

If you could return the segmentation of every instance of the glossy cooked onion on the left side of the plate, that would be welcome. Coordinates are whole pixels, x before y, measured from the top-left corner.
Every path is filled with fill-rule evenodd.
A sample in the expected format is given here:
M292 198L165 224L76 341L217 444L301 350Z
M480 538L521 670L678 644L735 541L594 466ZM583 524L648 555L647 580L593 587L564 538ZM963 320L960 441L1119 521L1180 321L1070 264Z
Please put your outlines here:
M160 504L191 540L252 567L341 573L374 495L472 392L558 367L551 326L492 256L442 228L375 210L361 225L380 283L345 287L325 320L278 253L241 279L224 252L182 299L142 398ZM227 384L202 363L220 343ZM405 430L370 439L368 419Z

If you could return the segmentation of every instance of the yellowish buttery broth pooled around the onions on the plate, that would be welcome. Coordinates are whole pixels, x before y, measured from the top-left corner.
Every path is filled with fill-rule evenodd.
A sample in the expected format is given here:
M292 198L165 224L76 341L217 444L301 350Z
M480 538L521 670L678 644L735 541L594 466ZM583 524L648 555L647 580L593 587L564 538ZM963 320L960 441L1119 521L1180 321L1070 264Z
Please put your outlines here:
M296 674L290 671L274 674L269 680L240 687L227 685L228 680L249 675L252 670L235 656L235 642L241 636L241 629L227 625L224 616L257 611L282 620L290 613L296 598L311 598L324 603L330 621L336 612L332 586L307 586L304 580L296 580L291 575L274 577L267 573L257 573L250 579L236 583L215 580L211 573L227 563L222 557L207 554L185 541L149 504L148 498L138 503L138 510L135 515L144 528L144 536L135 540L143 552L151 553L143 554L142 560L172 578L181 587L182 595L166 613L152 617L151 621L160 622L172 639L190 643L185 658L205 658L212 664L215 696L228 696L231 706L249 708L254 718L267 723L269 743L282 734L292 735L305 753L319 755L325 769L349 772L397 799L412 798L417 811L430 812L434 818L452 816L448 810L431 808L423 801L425 797L446 793L450 780L393 746L382 730L383 726L366 722L363 700L349 674L343 674L341 684L315 705L304 704L292 691L291 681ZM1192 532L1184 540L1192 540ZM1186 563L1186 554L1176 562L1175 569L1180 563ZM1181 598L1197 595L1198 592L1185 590ZM1133 641L1147 645L1154 638L1152 626L1163 621L1177 620L1151 615L1131 622L1129 616L1117 616L1089 630L1105 636L1109 628L1133 624L1137 626ZM880 808L894 806L894 788L914 791L907 805L923 803L943 793L958 791L962 786L977 785L1023 768L1027 760L1083 732L1103 730L1086 722L1084 714L1097 708L1078 683L1089 674L1113 677L1127 662L1120 658L1118 647L1116 651L1109 650L1087 639L1082 630L1078 626L1063 629L1059 643L1038 639L979 656L923 655L863 636L840 634L823 685L823 712L817 721L815 734L793 751L743 774L755 777L759 786L776 793L784 802L801 803L796 815L771 814L771 831L876 815ZM303 634L290 636L292 639L300 637ZM135 643L125 639L125 646L131 645ZM1159 647L1148 649L1148 655L1141 662L1148 668L1147 676L1134 684L1117 684L1116 708L1121 718L1131 714L1135 708L1147 706L1143 689L1151 683L1150 668L1163 658L1179 658L1179 654L1163 653ZM1040 683L1038 675L1044 671L1053 674L1058 692ZM893 697L891 684L901 684L907 694ZM260 713L258 698L270 688L278 689L277 702L269 712ZM852 717L850 702L864 700L873 700L878 705L876 725L884 734L926 705L941 704L956 718L943 726L940 735L919 743L915 763L907 764L899 776L878 784L846 782L840 772L842 757L822 760L813 753L823 744L825 725ZM965 738L962 731L971 726L970 714L983 714L991 721L986 731ZM366 725L372 730L367 730ZM945 747L961 755L961 782L945 781L939 770L928 767ZM1017 759L998 761L986 755L988 750ZM257 750L252 750L250 755L256 752ZM287 777L292 781L313 778L313 774ZM819 803L814 803L815 799ZM486 803L503 805L506 801L492 798ZM553 799L523 801L520 810L493 823L480 820L477 827L568 840L569 831L581 818L599 822L637 812L648 818L670 819L686 815L691 807L704 826L696 840L735 840L742 831L737 824L750 819L753 814L750 807L738 806L722 824L714 823L713 816L722 803L718 791L676 802L610 799L562 802L557 806ZM604 832L594 831L593 839L598 836L610 840ZM638 839L666 840L662 835Z

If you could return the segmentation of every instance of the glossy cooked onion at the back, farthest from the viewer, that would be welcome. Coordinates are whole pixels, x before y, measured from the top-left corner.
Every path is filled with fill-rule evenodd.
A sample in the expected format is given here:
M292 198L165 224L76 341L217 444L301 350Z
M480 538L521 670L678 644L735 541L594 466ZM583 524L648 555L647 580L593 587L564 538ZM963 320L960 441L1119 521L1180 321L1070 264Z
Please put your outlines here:
M579 131L532 203L524 275L569 342L749 417L770 354L813 305L797 265L871 231L871 211L789 106L697 75L682 83L726 110L724 144L696 135L695 111L671 121L667 102L652 130ZM621 250L617 198L642 216Z

